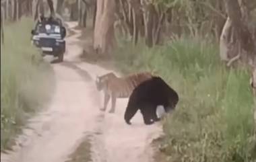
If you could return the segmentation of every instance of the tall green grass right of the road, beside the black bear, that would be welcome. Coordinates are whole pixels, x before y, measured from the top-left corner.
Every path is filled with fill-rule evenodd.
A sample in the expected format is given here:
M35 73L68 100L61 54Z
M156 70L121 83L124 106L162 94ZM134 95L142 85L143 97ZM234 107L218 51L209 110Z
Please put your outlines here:
M179 38L155 48L120 42L123 73L153 71L180 96L163 121L166 161L253 162L256 138L247 69L226 69L218 48L200 38Z

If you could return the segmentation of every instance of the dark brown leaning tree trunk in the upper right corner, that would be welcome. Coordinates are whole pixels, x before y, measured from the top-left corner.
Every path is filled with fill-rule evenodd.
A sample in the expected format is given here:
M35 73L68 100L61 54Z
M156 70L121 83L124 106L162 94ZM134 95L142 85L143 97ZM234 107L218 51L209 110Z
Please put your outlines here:
M230 18L230 25L232 26L232 38L234 42L228 42L227 52L232 51L236 56L232 56L228 65L234 60L241 58L243 62L255 61L256 47L253 34L249 30L247 17L249 14L247 8L242 8L238 0L225 0L226 12ZM228 55L228 54L227 54Z

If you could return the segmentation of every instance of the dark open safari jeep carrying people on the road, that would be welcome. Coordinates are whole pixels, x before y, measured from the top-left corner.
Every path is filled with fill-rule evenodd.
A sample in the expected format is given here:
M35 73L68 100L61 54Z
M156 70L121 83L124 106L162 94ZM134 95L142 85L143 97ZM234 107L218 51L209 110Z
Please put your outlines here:
M37 22L34 30L31 31L32 43L42 50L43 56L46 54L57 56L59 61L63 61L65 53L66 30L60 20L44 18L42 22Z

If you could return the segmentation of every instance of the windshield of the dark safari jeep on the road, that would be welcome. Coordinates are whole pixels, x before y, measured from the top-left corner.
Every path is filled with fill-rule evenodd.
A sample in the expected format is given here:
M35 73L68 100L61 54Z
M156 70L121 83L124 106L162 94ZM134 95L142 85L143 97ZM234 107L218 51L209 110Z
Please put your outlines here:
M38 24L36 32L38 34L61 34L61 28L53 24Z

